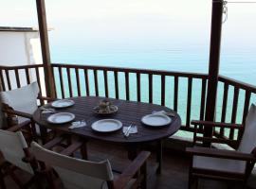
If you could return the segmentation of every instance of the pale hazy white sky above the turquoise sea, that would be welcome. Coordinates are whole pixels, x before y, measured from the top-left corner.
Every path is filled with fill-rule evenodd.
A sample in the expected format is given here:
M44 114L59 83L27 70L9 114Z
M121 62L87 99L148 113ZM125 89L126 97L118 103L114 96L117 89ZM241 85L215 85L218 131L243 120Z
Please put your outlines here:
M232 0L236 1L243 0ZM37 26L35 0L0 0L0 5L0 26ZM224 35L234 39L255 33L256 4L228 6ZM211 0L46 0L48 26L58 34L54 40L59 43L64 38L72 43L70 34L77 32L90 36L82 41L94 43L109 37L117 43L127 37L159 41L181 36L182 41L188 31L205 40L210 35L210 12Z

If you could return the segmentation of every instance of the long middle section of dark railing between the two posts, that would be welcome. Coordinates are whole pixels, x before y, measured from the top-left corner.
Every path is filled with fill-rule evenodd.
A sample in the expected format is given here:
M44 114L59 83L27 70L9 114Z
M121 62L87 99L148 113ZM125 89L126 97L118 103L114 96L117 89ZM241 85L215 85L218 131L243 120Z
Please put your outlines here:
M185 112L182 115L186 116L183 117L186 120L183 129L186 130L191 130L192 83L197 79L196 85L201 82L198 118L204 117L207 87L207 75L204 74L70 64L52 64L52 67L55 83L60 86L56 89L58 97L101 95L168 106L174 111ZM181 95L184 99L179 100ZM179 109L179 106L182 107Z

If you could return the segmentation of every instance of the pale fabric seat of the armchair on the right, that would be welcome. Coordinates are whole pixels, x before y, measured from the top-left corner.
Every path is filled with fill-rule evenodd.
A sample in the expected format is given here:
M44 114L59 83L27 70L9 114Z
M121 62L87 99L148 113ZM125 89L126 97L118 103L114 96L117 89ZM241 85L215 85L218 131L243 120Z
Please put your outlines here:
M246 170L246 162L244 161L203 156L194 156L192 166L193 168L207 169L210 171L224 171L241 174L244 174Z

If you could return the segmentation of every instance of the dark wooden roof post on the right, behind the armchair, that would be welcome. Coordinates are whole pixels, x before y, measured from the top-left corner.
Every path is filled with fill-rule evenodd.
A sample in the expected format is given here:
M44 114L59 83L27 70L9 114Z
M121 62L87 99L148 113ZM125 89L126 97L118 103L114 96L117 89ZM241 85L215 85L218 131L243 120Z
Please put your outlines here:
M210 31L210 62L209 62L209 82L207 92L206 116L205 120L214 121L218 76L219 76L219 62L221 49L221 31L222 31L222 15L223 15L223 0L212 0L211 12L211 31ZM212 129L205 129L204 136L211 137ZM210 143L204 144L210 146Z

